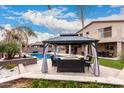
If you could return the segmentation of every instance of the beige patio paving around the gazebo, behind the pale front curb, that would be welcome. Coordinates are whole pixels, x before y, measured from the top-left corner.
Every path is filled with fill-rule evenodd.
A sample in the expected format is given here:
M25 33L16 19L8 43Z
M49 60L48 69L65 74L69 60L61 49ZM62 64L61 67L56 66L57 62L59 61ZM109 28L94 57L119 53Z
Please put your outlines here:
M57 72L57 68L52 66L51 59L47 59L48 63L48 74L54 74L54 75L72 75L72 76L90 76L90 77L96 77L94 76L92 70L89 71L87 68L85 68L85 73L71 73L71 72ZM41 73L41 66L42 66L42 60L39 60L37 64L25 66L25 69L27 72L32 73ZM100 66L100 77L110 77L110 76L116 76L120 70L112 69L104 66Z

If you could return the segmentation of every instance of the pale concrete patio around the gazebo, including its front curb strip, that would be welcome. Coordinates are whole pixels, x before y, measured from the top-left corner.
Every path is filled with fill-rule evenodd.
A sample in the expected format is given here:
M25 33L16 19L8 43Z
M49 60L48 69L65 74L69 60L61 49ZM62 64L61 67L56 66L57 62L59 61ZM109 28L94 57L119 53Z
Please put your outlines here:
M87 70L85 73L68 73L68 72L56 72L56 67L52 67L51 60L48 59L48 73L41 72L42 60L39 60L37 64L24 66L19 64L19 74L11 77L1 78L0 83L8 82L19 78L31 78L31 79L48 79L48 80L72 80L79 82L99 82L105 84L124 85L123 72L124 70L117 70L100 66L100 77L93 75L92 70Z

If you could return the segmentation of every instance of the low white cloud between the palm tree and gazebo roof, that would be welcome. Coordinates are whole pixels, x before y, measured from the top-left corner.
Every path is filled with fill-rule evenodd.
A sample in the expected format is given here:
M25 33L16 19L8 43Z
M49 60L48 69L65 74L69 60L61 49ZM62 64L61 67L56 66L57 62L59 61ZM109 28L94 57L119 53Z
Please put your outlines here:
M54 34L49 34L49 33L43 33L43 32L38 32L38 31L34 31L37 35L37 38L35 37L29 37L29 43L35 43L37 41L43 41L46 39L49 39L51 37L54 37Z

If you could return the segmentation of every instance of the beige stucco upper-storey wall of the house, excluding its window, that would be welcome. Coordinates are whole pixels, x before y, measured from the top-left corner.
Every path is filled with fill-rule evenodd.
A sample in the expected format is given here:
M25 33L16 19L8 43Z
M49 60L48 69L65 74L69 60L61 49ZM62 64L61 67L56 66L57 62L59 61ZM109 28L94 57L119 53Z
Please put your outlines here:
M101 38L98 29L112 26L112 37ZM118 41L120 38L124 38L124 22L100 22L93 23L80 31L78 34L83 33L83 36L87 36L86 32L89 32L88 37L99 39L101 41Z

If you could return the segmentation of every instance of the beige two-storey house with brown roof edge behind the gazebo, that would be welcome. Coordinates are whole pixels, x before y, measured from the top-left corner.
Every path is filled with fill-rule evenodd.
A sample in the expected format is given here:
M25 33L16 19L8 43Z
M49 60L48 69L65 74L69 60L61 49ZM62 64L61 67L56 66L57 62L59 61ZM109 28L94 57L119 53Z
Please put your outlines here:
M98 39L99 56L119 57L124 51L124 20L93 21L77 34Z

